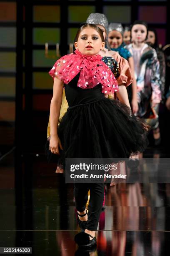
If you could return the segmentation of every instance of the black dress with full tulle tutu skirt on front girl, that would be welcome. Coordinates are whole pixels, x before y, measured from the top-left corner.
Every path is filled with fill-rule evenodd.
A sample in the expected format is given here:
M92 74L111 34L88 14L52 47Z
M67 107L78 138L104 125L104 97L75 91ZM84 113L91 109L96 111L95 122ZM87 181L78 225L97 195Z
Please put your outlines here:
M130 108L105 98L101 84L91 89L77 87L79 74L65 84L69 105L57 133L63 150L56 158L65 166L65 158L129 158L143 152L147 133Z

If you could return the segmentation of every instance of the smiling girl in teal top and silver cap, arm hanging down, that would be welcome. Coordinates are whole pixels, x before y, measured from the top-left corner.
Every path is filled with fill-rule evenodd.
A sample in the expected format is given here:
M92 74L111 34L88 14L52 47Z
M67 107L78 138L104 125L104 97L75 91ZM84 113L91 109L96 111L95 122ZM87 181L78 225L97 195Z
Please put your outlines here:
M132 82L132 89L128 91L128 96L132 105L133 113L135 114L138 111L138 102L137 102L137 86L136 86L136 79L134 74L134 62L133 62L133 57L130 54L130 51L128 51L128 49L125 48L125 43L123 42L122 24L120 23L109 24L108 43L112 51L117 51L120 54L120 56L127 59L129 62L129 65L133 74L133 82Z

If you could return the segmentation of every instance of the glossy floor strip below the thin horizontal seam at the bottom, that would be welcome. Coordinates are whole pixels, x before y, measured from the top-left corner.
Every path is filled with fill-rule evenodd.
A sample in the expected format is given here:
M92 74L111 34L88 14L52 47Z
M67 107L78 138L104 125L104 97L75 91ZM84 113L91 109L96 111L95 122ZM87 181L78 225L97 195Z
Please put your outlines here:
M1 246L32 247L33 255L74 256L77 246L75 230L0 231ZM162 231L97 231L95 252L81 255L102 256L168 256L169 232ZM5 238L5 240L3 239Z

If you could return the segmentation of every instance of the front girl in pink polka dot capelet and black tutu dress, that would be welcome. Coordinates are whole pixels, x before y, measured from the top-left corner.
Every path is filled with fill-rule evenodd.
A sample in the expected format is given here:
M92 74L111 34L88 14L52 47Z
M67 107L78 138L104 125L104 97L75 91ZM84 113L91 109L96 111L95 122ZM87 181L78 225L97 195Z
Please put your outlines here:
M75 53L63 56L49 72L54 79L50 150L54 154L60 150L62 164L65 158L128 158L145 149L145 128L131 115L130 108L104 96L119 90L114 75L98 54L104 46L100 28L85 24L77 31ZM69 108L57 128L63 87ZM84 230L75 241L82 248L95 246L104 184L75 184L74 195L79 225Z

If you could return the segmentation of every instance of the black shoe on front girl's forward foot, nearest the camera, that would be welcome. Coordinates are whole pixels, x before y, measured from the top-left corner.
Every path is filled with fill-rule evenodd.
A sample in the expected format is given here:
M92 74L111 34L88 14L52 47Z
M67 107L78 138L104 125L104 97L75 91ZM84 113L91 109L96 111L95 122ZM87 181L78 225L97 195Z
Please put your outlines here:
M91 240L90 237L92 238ZM97 245L96 236L92 237L85 232L81 232L75 235L75 242L78 244L79 248L82 249L93 248Z

